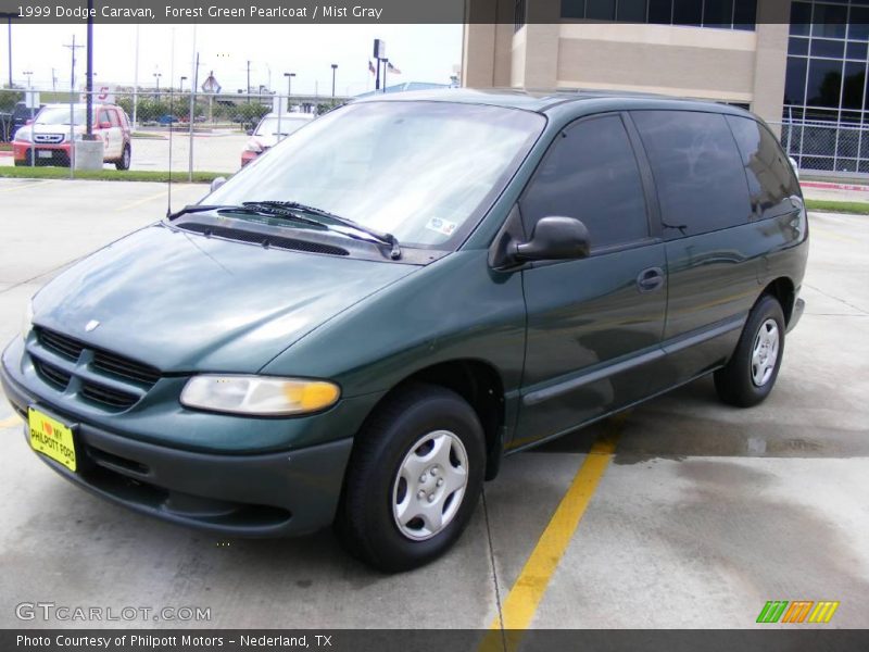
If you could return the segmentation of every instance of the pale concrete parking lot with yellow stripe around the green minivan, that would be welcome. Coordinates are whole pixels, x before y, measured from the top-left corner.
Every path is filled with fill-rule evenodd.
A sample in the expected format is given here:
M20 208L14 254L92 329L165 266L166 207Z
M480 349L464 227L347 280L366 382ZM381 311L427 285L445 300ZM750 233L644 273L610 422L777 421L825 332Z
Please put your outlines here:
M203 193L176 186L174 203ZM152 184L0 179L0 339L165 202ZM329 531L221 540L105 503L41 463L3 401L0 626L129 626L15 615L53 602L210 609L140 627L745 628L769 600L831 600L824 627L866 627L869 217L809 222L806 313L769 400L728 408L704 378L508 457L458 544L413 573L371 572Z

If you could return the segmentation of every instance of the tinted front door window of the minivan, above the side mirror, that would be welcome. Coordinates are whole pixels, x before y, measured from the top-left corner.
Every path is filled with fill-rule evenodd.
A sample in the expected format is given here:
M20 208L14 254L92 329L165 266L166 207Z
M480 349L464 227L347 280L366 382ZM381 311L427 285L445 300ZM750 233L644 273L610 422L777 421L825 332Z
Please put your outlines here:
M546 152L519 202L527 234L541 217L578 217L593 249L648 236L645 196L621 118L568 127Z

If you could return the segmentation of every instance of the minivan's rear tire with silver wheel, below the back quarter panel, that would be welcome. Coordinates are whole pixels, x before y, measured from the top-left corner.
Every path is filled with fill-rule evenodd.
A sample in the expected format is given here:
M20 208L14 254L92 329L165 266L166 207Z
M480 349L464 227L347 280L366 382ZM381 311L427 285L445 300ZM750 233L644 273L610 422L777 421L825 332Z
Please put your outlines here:
M772 391L784 356L784 313L764 294L748 313L730 361L715 372L715 389L725 403L751 408Z

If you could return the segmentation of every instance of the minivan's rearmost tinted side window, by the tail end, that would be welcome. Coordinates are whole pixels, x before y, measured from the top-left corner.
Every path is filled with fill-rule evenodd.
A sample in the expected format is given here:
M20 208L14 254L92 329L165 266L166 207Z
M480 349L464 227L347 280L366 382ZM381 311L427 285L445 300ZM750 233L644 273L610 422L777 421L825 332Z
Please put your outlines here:
M755 215L763 220L792 211L789 198L799 196L799 184L776 138L750 117L728 115L727 122L742 154Z

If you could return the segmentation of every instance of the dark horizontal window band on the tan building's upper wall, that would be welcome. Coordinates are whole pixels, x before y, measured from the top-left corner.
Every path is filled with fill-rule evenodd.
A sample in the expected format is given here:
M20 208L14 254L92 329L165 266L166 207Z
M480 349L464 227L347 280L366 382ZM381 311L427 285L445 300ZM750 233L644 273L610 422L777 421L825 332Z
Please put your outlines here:
M562 18L754 29L757 0L562 0Z

